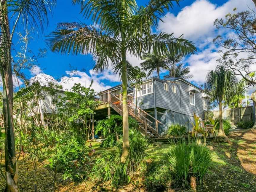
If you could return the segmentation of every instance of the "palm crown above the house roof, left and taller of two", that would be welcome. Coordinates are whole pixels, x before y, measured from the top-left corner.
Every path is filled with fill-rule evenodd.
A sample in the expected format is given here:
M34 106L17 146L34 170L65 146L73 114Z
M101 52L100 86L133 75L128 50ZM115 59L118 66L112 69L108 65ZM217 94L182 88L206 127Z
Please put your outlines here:
M151 76L156 71L158 78L160 78L161 69L167 70L168 66L165 62L165 57L154 53L145 53L142 57L144 60L140 63L143 71L148 71L148 76Z

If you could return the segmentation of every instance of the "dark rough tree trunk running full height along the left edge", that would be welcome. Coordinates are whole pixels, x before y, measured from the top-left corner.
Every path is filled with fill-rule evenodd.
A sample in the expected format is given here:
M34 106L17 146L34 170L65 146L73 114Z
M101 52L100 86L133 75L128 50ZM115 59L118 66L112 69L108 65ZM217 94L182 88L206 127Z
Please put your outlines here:
M1 0L1 2L3 2ZM12 64L11 64L11 41L7 4L2 5L1 10L1 77L3 82L3 114L5 128L5 191L18 191L17 167L15 154L15 135L13 125L13 83L12 83Z

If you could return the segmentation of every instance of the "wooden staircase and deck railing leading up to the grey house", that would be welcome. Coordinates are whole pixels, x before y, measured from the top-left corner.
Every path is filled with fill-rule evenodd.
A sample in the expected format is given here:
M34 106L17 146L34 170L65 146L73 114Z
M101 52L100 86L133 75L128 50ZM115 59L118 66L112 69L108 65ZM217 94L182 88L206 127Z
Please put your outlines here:
M123 116L123 103L121 94L116 96L109 90L96 95L95 100L99 101L99 105L111 107L121 116ZM106 105L107 103L108 105ZM137 108L136 113L135 105L133 104L133 98L131 96L127 97L127 105L128 114L130 117L137 121L137 129L140 132L148 137L160 137L158 134L158 124L162 124L160 121L140 108Z

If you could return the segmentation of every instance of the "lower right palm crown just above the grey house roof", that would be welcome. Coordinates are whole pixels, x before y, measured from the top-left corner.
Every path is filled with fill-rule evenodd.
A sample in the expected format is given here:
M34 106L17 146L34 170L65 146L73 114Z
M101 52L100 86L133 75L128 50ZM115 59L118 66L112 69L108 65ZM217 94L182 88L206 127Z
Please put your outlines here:
M181 77L183 79L188 80L193 77L193 75L189 75L189 73L190 73L190 68L188 66L185 67L185 66L183 66L182 63L180 63L180 64L176 65L175 67L172 66L169 69L169 74L164 77L165 78L166 77L171 77L171 78Z

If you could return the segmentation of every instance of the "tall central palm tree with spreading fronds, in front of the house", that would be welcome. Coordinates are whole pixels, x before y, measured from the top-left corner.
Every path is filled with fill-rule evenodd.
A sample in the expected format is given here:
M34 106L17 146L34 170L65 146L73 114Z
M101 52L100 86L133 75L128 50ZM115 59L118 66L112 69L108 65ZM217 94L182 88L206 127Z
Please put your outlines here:
M196 51L191 41L174 38L173 34L152 34L151 29L158 27L158 19L172 8L173 1L151 0L143 7L138 7L135 0L73 0L81 4L81 13L91 18L97 25L80 23L59 23L56 31L47 39L52 52L61 54L88 54L95 60L94 70L103 72L109 67L121 63L123 87L123 150L121 161L124 162L129 152L129 127L127 108L127 60L130 54L140 57L142 52L151 49L166 53L170 50L184 55Z

